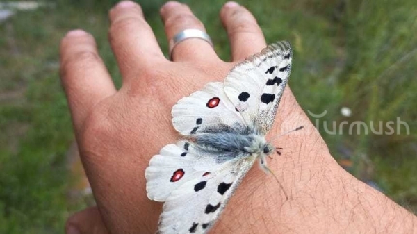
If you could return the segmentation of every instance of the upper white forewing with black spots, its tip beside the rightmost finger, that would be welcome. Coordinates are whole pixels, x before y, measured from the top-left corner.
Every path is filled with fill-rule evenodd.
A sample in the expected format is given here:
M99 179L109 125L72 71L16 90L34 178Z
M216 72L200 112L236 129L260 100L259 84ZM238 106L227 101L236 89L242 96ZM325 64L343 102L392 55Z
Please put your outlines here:
M231 69L224 92L245 119L267 133L291 72L292 51L288 42L270 44Z

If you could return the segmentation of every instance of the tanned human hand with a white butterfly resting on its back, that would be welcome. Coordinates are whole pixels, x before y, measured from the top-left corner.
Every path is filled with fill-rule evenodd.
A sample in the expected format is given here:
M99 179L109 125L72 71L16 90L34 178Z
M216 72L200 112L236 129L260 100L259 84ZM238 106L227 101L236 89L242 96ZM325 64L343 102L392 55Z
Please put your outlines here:
M186 28L204 31L202 23L183 4L166 3L161 16L167 38ZM220 60L207 42L198 39L179 43L173 51L173 61L169 61L158 47L140 6L129 1L119 3L110 12L109 35L123 77L120 90L115 89L106 72L91 35L72 31L63 38L61 78L81 159L99 208L99 212L90 208L74 215L67 223L67 231L70 226L81 233L156 231L162 203L147 199L145 168L161 147L179 138L171 124L172 106L209 81L223 81L236 62L266 46L256 20L242 6L226 4L220 17L230 39L231 62ZM213 232L322 231L318 220L337 217L333 212L345 208L336 202L331 204L334 210L330 210L326 201L351 194L354 190L350 186L376 192L368 191L370 188L363 187L366 185L336 164L287 87L268 135L279 135L284 127L297 126L304 126L302 135L280 137L283 155L269 162L289 195L288 201L272 176L254 168L229 201ZM340 187L341 183L347 188ZM385 198L382 194L375 196L380 201ZM329 222L327 228L340 230L337 228L351 223L354 220L342 219Z

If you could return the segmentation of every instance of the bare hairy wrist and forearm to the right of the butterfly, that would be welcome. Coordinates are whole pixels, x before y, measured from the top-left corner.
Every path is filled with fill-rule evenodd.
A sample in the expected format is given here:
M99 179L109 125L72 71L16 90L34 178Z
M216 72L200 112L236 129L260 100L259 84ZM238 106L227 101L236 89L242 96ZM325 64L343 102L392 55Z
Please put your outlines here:
M288 199L272 175L254 167L231 198L215 230L219 233L411 230L417 223L416 217L340 167L300 106L288 105L295 102L288 93L291 91L283 97L284 105L269 137L285 132L280 130L284 124L291 126L286 131L297 126L304 128L279 137L274 143L284 148L282 155L268 161ZM402 223L398 224L398 220Z

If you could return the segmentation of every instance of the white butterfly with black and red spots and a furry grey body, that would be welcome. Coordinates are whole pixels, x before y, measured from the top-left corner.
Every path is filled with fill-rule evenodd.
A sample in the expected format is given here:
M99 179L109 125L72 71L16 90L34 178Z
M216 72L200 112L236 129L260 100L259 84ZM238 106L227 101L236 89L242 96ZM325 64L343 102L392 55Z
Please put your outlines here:
M172 124L183 135L152 157L145 170L147 197L165 202L158 233L206 233L236 187L275 147L265 140L291 72L288 42L270 44L238 63L224 83L172 107Z

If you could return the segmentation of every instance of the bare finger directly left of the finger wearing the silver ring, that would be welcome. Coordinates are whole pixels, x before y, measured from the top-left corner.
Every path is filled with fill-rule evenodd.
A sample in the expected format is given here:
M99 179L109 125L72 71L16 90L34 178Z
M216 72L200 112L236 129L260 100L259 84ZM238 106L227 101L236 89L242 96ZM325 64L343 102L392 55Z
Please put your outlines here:
M138 4L121 1L109 16L111 47L124 81L136 77L142 67L166 60Z

